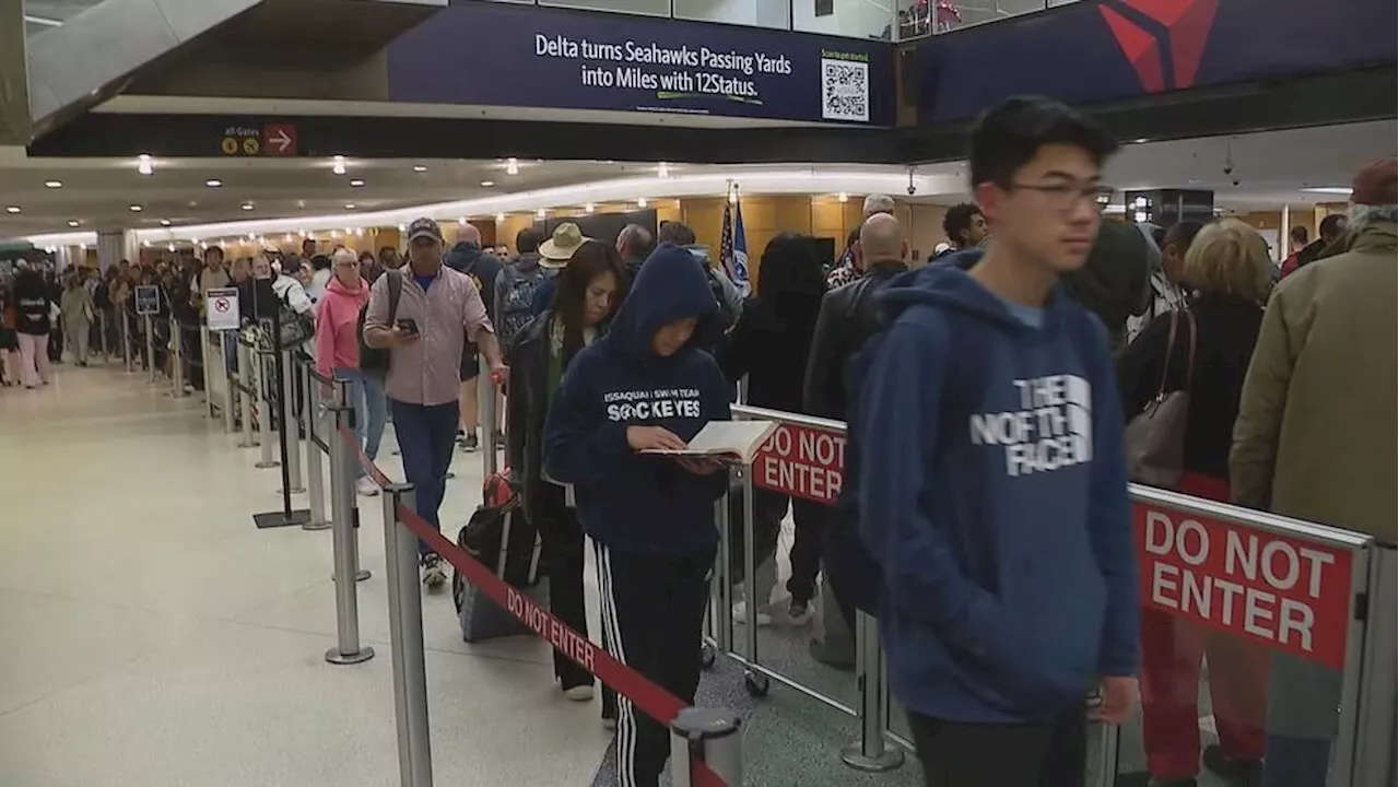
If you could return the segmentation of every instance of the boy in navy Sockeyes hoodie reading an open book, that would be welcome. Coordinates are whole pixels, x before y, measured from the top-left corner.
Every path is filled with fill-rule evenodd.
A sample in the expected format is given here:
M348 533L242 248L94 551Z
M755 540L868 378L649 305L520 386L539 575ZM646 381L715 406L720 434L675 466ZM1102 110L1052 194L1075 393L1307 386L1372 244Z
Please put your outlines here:
M727 473L709 461L644 455L684 448L729 420L729 385L697 347L718 305L688 249L662 244L599 339L568 367L544 423L544 472L574 485L597 549L607 650L686 702L700 683L700 637ZM665 724L618 696L623 787L655 787L670 756ZM669 720L665 720L669 723Z

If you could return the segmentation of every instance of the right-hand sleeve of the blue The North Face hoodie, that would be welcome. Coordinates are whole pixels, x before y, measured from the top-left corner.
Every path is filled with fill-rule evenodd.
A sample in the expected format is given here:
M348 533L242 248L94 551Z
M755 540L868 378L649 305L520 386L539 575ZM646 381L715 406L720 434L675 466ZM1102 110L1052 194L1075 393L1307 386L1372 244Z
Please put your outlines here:
M1132 501L1128 497L1128 462L1122 440L1122 396L1108 330L1093 315L1093 475L1088 487L1088 538L1107 588L1102 627L1102 675L1136 675L1142 653L1142 608L1137 599L1136 545L1132 541Z

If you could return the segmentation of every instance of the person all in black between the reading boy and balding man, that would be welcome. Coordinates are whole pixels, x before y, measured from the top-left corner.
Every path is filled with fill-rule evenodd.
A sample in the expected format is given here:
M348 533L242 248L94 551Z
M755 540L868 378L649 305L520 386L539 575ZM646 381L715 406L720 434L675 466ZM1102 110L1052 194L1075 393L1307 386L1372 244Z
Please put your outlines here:
M821 311L825 280L811 238L782 232L768 241L758 265L758 293L743 304L739 322L718 353L719 367L730 382L748 378L748 405L800 413L802 381L811 350L816 318ZM775 563L778 531L786 518L788 496L754 490L754 566L760 598L736 605L734 616L747 620L757 609L760 626L771 622L768 595L776 584ZM824 510L818 503L792 500L796 535L792 541L792 577L786 590L788 622L802 625L811 619L816 576L821 569ZM737 543L741 543L739 539ZM737 560L734 566L744 562ZM736 571L734 576L741 576Z

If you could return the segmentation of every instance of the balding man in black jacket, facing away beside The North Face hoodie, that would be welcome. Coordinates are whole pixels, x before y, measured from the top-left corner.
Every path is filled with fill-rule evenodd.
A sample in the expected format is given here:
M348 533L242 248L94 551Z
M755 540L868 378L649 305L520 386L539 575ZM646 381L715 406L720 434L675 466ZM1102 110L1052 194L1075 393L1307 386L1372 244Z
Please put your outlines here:
M806 412L813 416L845 420L849 361L880 329L879 293L890 280L908 270L908 244L898 220L891 214L870 216L860 227L859 244L865 255L865 274L827 293L816 319L803 385ZM855 609L873 615L879 604L879 587L877 573L855 534L851 507L842 501L837 508L825 527L824 552L825 580L831 588L827 599L838 604L839 615L831 613L834 611L830 606L825 608L825 639L813 648L813 655L827 664L849 665L855 660L855 643L849 636L855 626ZM846 630L841 630L842 622Z

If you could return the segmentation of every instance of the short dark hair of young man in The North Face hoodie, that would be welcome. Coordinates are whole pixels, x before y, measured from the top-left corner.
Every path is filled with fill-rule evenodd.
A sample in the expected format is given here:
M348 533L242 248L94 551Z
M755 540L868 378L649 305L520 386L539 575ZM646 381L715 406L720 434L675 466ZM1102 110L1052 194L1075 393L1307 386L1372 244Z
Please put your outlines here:
M977 118L971 130L971 182L1010 185L1046 144L1083 148L1102 164L1118 143L1077 109L1042 95L1007 98Z

